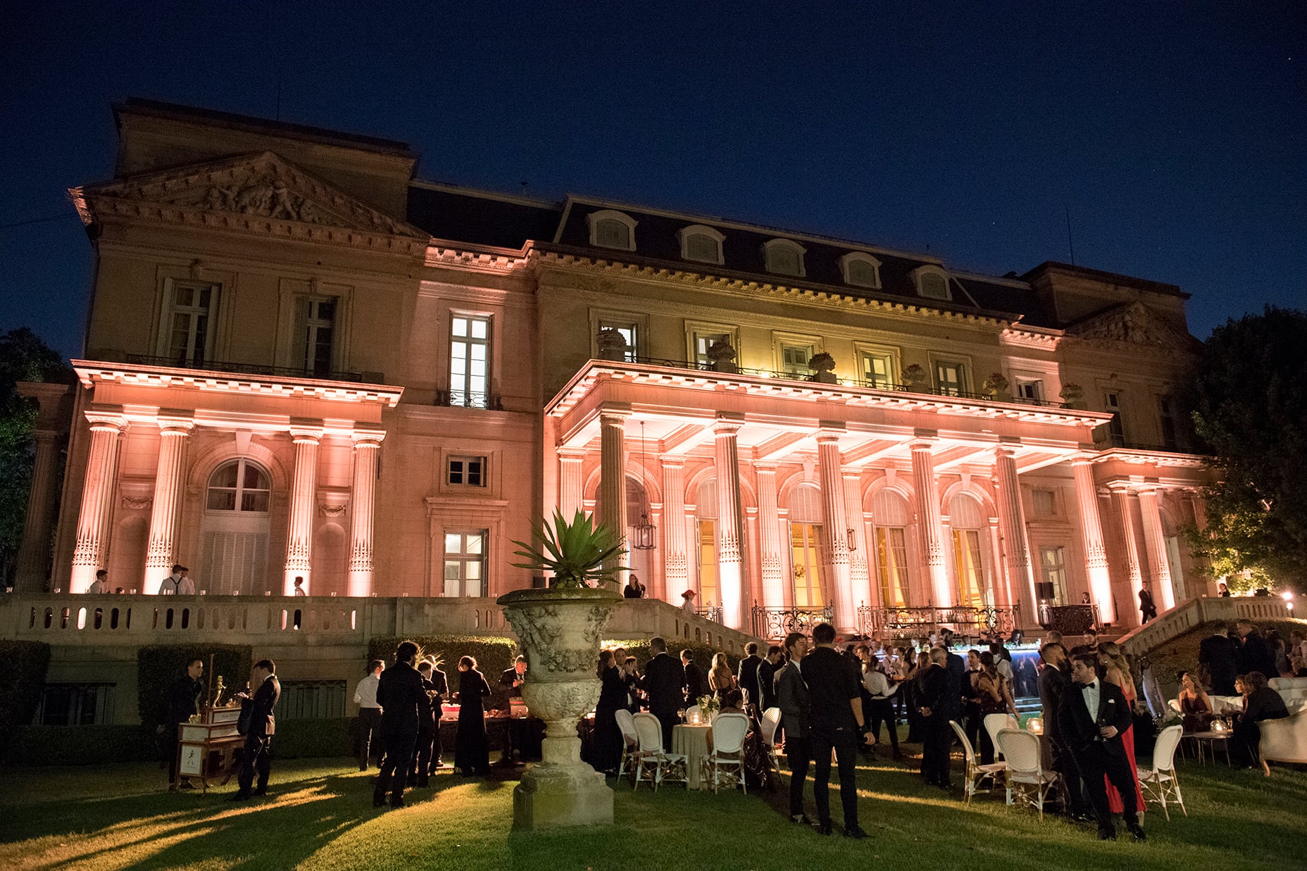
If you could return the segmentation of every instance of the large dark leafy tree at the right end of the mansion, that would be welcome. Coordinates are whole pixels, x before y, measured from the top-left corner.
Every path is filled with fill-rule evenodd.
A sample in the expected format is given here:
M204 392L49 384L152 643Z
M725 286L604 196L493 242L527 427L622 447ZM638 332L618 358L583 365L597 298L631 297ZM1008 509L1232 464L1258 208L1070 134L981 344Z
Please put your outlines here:
M1248 586L1307 586L1307 313L1268 306L1204 343L1188 396L1214 456L1208 528L1191 530L1214 574Z

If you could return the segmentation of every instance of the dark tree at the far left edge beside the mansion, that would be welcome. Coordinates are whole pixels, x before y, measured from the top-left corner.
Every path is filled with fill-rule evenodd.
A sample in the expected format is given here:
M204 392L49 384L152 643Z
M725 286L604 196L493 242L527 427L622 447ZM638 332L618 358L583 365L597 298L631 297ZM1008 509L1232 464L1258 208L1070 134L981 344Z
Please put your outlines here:
M67 382L72 370L31 330L0 335L0 582L9 583L22 543L31 487L31 428L37 409L18 394L20 381Z

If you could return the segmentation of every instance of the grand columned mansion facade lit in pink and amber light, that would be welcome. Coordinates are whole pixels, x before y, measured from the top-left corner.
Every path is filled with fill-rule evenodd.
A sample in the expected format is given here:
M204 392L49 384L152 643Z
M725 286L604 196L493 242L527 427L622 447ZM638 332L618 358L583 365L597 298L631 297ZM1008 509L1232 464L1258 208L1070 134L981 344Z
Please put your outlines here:
M18 590L497 596L580 509L648 595L1040 608L1214 592L1179 288L416 179L404 144L148 101L72 197L97 268ZM71 416L71 424L68 422ZM63 422L60 422L63 421ZM51 466L67 433L61 493ZM52 541L52 553L50 543ZM52 566L52 568L51 568Z

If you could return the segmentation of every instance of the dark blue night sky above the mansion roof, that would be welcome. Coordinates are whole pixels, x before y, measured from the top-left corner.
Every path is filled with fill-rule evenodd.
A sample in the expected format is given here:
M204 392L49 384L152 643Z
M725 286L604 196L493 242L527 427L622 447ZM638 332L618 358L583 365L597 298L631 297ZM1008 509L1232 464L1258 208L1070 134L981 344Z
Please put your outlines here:
M1307 303L1307 4L16 3L0 330L78 353L129 95L410 143L420 177Z

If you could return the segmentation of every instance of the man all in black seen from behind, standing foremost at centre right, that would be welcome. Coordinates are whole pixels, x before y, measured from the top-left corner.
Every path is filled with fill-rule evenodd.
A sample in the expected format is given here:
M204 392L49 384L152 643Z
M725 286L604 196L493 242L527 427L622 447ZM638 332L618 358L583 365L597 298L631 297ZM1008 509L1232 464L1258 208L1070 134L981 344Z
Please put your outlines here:
M813 798L817 802L817 832L831 833L830 752L839 765L839 803L844 810L844 837L865 838L857 824L857 739L863 735L863 681L857 666L835 651L835 626L813 626L810 654L800 671L808 684L813 715Z

